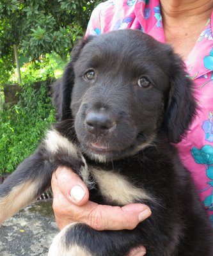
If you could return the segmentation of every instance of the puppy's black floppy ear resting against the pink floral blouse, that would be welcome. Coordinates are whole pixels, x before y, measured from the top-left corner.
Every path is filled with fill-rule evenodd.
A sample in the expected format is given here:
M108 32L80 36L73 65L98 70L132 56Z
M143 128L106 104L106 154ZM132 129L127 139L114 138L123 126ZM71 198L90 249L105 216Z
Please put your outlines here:
M193 81L185 72L184 62L170 51L170 93L166 106L166 130L171 143L184 137L196 113Z

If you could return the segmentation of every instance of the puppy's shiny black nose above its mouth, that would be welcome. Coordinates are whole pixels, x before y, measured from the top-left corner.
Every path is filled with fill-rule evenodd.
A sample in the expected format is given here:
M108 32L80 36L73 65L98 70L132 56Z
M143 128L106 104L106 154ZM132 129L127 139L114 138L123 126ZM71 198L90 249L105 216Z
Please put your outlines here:
M86 116L86 128L96 136L109 132L114 125L113 118L107 113L90 112Z

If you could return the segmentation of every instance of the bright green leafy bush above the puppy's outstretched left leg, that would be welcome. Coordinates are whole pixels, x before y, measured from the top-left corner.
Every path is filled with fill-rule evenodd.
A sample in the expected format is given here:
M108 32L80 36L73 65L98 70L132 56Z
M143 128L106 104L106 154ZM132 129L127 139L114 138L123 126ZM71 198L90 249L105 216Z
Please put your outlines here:
M45 82L38 90L27 84L19 103L0 112L0 175L13 172L35 150L54 116Z

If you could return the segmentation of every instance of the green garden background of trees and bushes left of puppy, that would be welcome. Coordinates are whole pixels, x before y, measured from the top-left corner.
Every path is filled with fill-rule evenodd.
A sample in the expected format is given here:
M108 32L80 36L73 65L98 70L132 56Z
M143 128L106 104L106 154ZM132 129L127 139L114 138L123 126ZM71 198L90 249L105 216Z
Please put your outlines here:
M0 175L13 172L55 122L51 84L99 2L0 0Z

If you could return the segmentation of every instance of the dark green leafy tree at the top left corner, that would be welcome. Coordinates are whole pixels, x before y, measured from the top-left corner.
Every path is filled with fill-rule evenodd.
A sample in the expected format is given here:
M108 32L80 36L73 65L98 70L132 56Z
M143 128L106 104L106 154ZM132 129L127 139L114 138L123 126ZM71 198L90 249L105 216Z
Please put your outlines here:
M14 45L29 60L49 52L65 59L74 41L83 35L98 1L1 0L0 81L14 67Z

